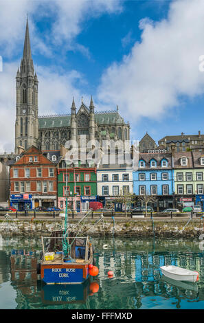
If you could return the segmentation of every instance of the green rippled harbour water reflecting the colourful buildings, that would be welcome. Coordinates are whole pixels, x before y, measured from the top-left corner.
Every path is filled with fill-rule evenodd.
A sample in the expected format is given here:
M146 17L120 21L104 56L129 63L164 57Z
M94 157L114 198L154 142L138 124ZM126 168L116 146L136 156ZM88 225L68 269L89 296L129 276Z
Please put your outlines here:
M0 309L203 309L204 252L199 239L92 238L99 275L85 285L43 285L36 274L40 238L0 239ZM104 249L104 245L107 245ZM159 269L199 272L190 284ZM113 271L109 278L108 271Z

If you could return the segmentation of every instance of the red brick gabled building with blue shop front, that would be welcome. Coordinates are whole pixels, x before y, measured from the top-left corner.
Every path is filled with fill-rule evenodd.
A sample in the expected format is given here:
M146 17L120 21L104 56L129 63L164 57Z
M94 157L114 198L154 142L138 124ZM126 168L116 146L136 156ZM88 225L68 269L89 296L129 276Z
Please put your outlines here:
M52 161L54 160L54 161ZM57 158L31 146L10 165L10 205L17 210L57 206Z

